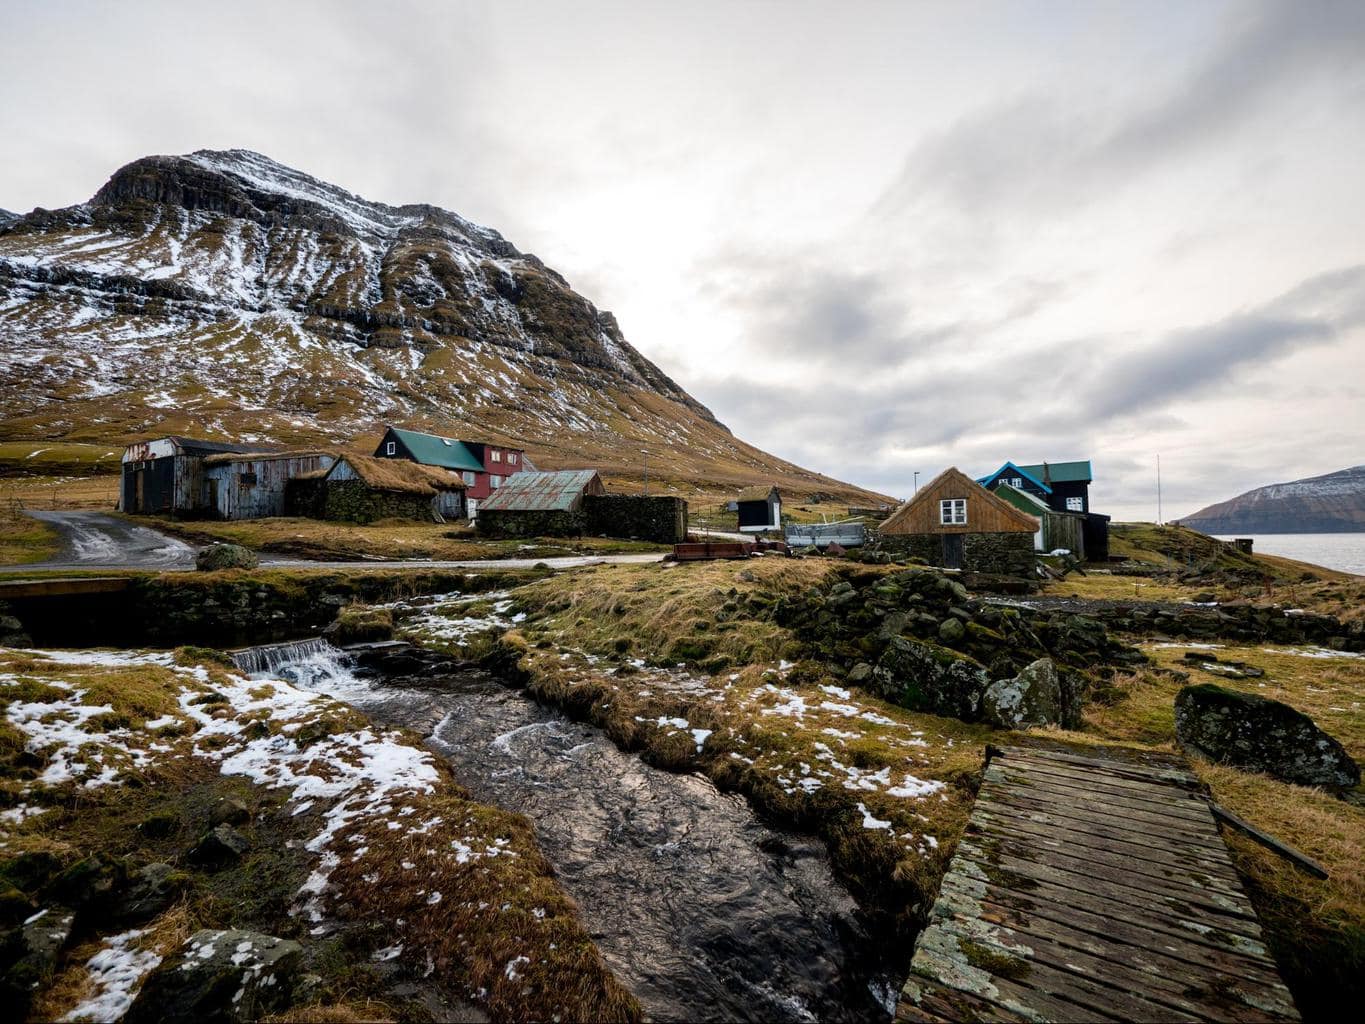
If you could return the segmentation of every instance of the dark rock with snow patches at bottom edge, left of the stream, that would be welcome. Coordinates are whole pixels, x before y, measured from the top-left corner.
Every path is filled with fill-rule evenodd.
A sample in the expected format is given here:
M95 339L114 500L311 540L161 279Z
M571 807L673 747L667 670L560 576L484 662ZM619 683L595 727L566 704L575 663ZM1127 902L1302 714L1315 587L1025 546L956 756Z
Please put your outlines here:
M142 986L126 1024L259 1020L296 998L303 948L255 931L195 933Z

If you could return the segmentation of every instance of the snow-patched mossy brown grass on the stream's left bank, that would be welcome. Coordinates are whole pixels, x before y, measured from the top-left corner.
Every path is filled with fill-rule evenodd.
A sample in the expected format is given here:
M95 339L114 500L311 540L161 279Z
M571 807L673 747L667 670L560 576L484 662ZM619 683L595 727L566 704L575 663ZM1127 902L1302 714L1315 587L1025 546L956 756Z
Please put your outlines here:
M244 680L206 651L0 651L0 766L7 912L42 878L117 885L123 870L171 863L179 897L138 948L164 956L201 927L296 938L319 983L287 1019L427 1020L423 989L495 1021L640 1017L530 822L472 801L416 737L328 698ZM242 804L250 848L197 868L184 851L225 800ZM83 920L34 1019L98 994L87 961L123 924L101 927L94 905ZM394 986L374 969L381 957L433 980Z

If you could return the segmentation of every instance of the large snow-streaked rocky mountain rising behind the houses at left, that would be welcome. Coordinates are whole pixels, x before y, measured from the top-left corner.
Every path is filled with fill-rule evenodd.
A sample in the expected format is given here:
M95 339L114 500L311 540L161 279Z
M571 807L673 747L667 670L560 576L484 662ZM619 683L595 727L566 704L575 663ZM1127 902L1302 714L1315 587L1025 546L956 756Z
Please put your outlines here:
M835 485L736 440L497 231L246 150L0 216L0 386L7 440L347 445L389 422L547 466L628 471L644 448L680 479Z

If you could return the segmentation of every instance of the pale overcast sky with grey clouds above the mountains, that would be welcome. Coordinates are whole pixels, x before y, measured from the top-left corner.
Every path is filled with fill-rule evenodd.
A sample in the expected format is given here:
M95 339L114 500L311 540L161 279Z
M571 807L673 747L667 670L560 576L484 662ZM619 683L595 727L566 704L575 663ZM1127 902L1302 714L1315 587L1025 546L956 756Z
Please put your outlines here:
M736 434L1166 517L1365 461L1365 3L0 0L0 208L247 147L489 224Z

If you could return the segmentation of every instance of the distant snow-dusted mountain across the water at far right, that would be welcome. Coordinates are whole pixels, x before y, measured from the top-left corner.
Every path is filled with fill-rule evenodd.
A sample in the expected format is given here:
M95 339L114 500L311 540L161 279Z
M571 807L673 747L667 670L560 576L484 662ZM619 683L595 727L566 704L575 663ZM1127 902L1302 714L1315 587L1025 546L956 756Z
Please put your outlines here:
M1271 483L1181 520L1205 534L1335 534L1365 531L1365 466Z

